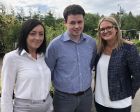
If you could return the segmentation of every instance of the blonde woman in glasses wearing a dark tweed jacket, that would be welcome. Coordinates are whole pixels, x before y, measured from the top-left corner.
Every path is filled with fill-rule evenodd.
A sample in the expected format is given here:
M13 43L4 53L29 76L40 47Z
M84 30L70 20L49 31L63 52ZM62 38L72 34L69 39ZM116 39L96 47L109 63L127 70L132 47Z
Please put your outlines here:
M130 112L140 87L140 57L122 39L117 21L104 17L98 25L95 105L97 112Z

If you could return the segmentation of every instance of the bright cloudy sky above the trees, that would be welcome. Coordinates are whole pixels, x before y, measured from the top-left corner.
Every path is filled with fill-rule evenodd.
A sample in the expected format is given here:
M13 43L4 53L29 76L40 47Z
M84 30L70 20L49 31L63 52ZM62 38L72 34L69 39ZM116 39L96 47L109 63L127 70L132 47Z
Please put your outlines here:
M31 11L39 11L46 14L51 11L56 17L63 17L63 10L70 4L81 5L86 13L108 16L117 13L120 8L126 13L130 11L134 15L140 15L140 0L0 0L6 6L7 11L13 8L19 12L23 8L25 15Z

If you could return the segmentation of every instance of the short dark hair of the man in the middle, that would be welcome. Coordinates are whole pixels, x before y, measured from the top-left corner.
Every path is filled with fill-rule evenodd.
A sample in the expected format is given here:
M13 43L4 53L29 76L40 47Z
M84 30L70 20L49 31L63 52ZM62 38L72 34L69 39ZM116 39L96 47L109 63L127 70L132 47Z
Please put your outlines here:
M68 16L71 14L72 15L82 14L84 17L85 11L80 5L73 4L73 5L67 6L63 12L63 16L66 22L67 22Z

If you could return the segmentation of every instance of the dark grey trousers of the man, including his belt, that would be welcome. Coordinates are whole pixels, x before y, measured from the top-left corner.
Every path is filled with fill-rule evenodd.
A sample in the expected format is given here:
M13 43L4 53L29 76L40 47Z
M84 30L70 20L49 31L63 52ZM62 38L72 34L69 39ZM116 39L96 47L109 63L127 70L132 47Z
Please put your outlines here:
M69 94L55 90L54 112L91 112L91 88L80 94Z

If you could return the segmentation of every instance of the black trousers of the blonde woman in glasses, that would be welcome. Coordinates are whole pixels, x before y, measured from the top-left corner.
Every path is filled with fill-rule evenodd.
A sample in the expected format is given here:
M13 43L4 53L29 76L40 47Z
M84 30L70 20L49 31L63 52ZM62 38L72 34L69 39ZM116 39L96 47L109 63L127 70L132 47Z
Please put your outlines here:
M131 112L131 106L126 108L116 109L116 108L104 107L95 102L95 107L97 112Z

